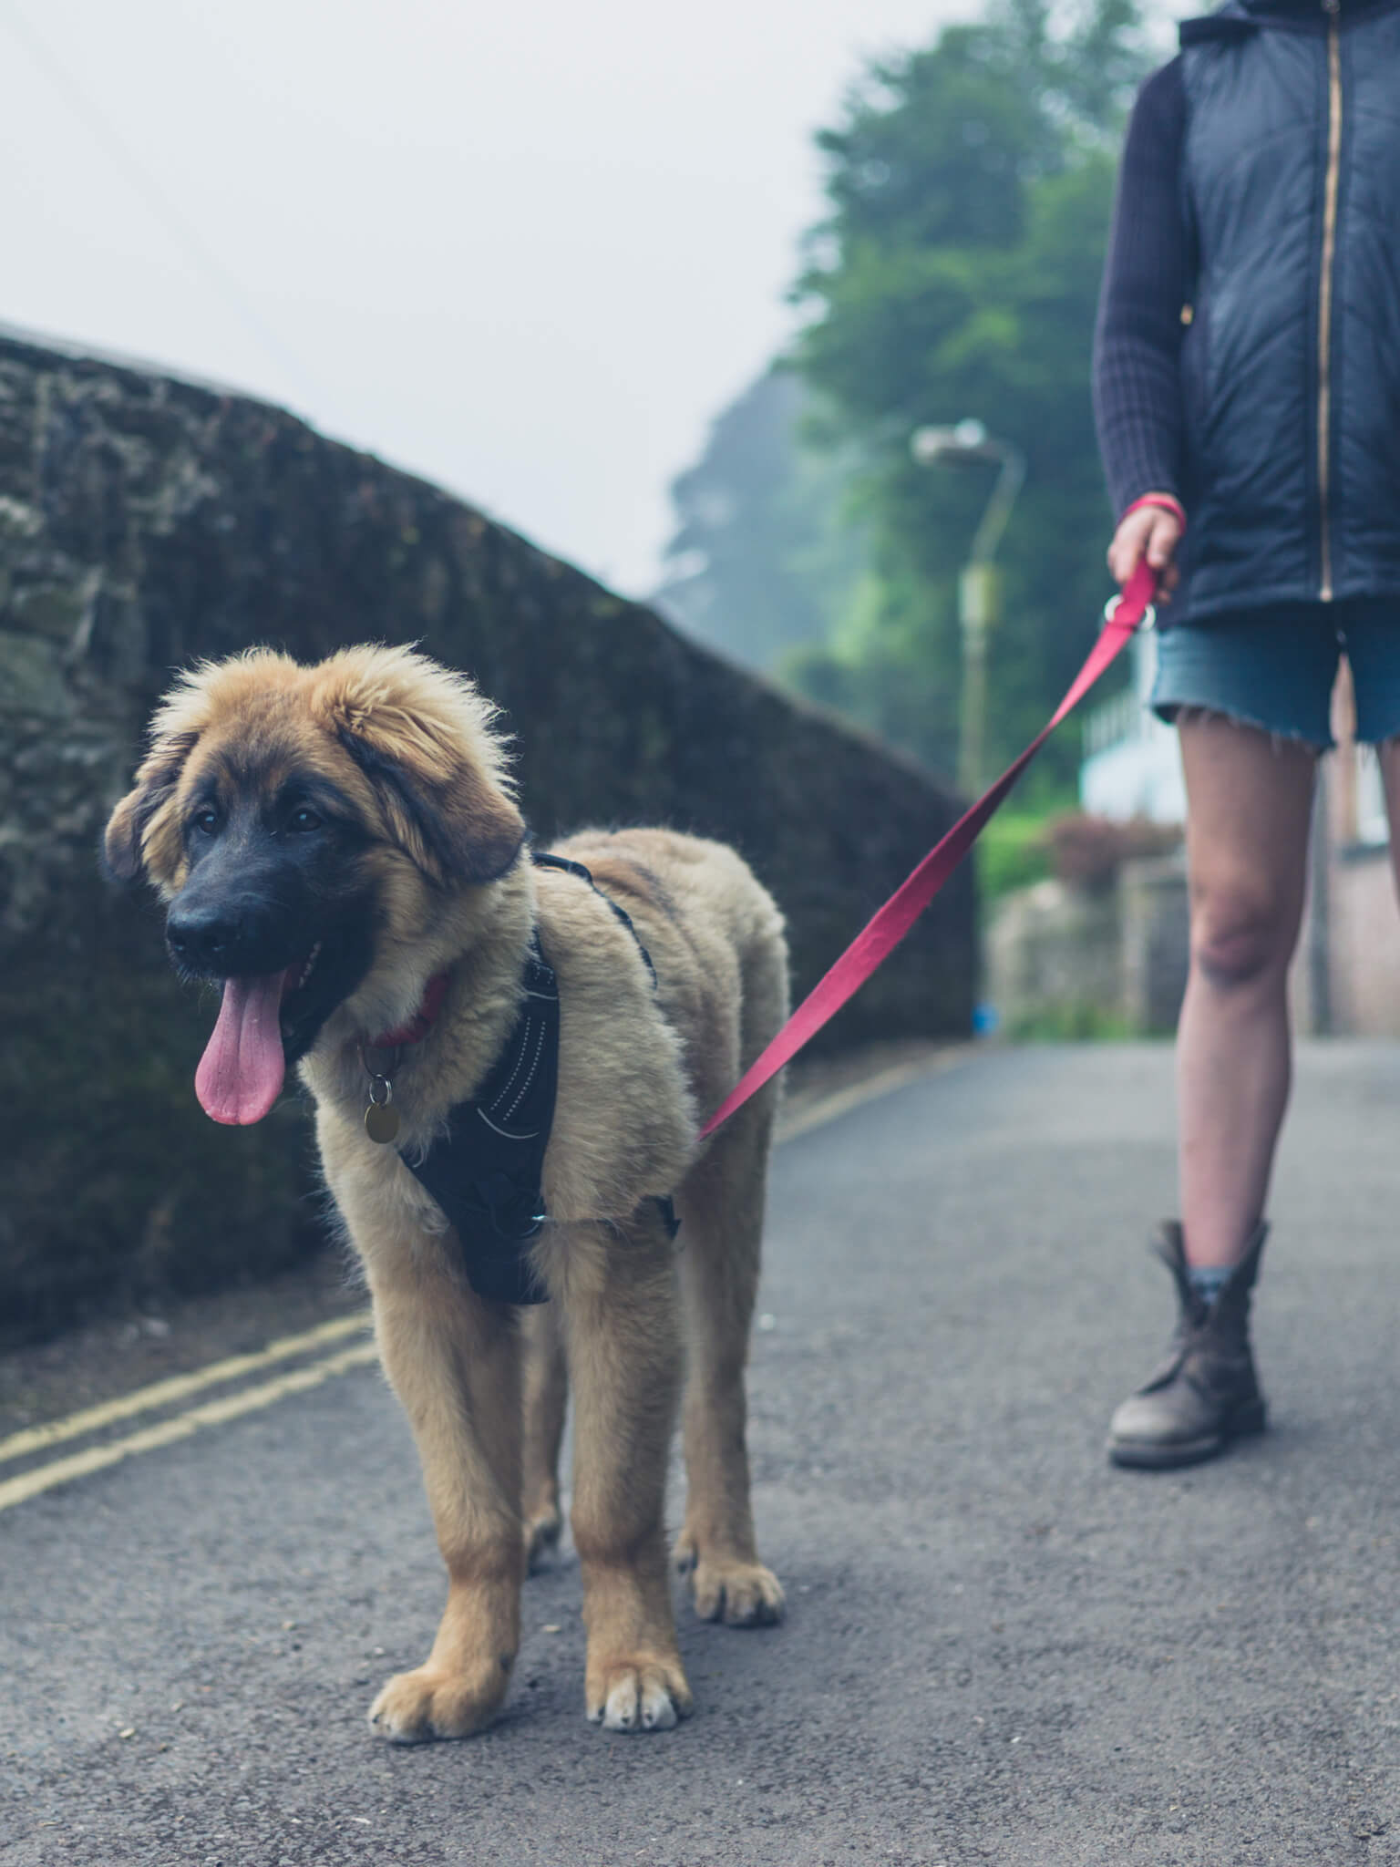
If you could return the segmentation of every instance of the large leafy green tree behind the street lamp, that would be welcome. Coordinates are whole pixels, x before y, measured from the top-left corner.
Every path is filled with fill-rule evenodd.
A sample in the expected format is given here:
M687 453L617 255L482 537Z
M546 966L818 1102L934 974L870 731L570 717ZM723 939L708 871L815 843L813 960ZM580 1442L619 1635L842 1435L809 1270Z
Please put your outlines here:
M956 762L956 579L993 469L918 467L911 433L976 416L1027 456L999 553L993 754L1058 698L1107 588L1090 345L1113 147L1146 58L1131 0L1060 21L1010 0L950 26L874 65L818 138L831 215L808 237L793 360L859 463L870 575L788 672L941 769ZM1047 758L1064 782L1073 739Z

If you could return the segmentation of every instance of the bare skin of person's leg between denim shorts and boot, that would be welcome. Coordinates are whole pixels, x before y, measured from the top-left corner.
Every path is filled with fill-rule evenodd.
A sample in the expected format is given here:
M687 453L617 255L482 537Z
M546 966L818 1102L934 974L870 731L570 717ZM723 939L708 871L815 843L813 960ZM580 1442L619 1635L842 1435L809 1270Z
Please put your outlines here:
M1232 1266L1260 1219L1290 1085L1288 962L1316 749L1210 713L1178 721L1191 971L1176 1040L1189 1266Z

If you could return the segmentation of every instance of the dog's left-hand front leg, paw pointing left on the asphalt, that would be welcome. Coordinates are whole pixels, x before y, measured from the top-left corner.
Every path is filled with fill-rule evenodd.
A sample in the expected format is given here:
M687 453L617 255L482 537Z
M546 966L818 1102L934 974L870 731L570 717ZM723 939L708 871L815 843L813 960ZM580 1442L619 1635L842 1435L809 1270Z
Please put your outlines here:
M427 1660L390 1678L370 1723L399 1744L489 1723L521 1637L521 1352L515 1316L424 1253L368 1260L385 1372L418 1441L448 1604Z

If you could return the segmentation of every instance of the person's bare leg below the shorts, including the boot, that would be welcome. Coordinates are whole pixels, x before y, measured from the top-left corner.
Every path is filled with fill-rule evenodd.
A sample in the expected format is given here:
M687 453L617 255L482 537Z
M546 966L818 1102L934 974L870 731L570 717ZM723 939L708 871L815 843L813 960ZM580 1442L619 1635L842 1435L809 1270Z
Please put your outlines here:
M1316 749L1191 711L1191 971L1178 1027L1182 1225L1157 1255L1176 1284L1165 1361L1122 1402L1109 1458L1150 1469L1211 1458L1264 1426L1249 1305L1264 1199L1288 1102L1288 960L1297 941Z

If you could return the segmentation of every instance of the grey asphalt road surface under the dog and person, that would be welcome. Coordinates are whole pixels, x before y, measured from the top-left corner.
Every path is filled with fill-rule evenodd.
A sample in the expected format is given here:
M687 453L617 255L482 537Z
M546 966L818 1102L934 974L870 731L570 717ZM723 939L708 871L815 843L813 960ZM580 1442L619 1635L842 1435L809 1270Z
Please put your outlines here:
M1400 1861L1400 1047L1309 1047L1275 1430L1103 1458L1169 1322L1165 1047L978 1051L790 1141L752 1453L780 1628L681 1611L696 1712L582 1718L579 1572L500 1723L364 1710L442 1583L373 1369L0 1514L0 1863ZM674 1507L672 1507L674 1514Z

